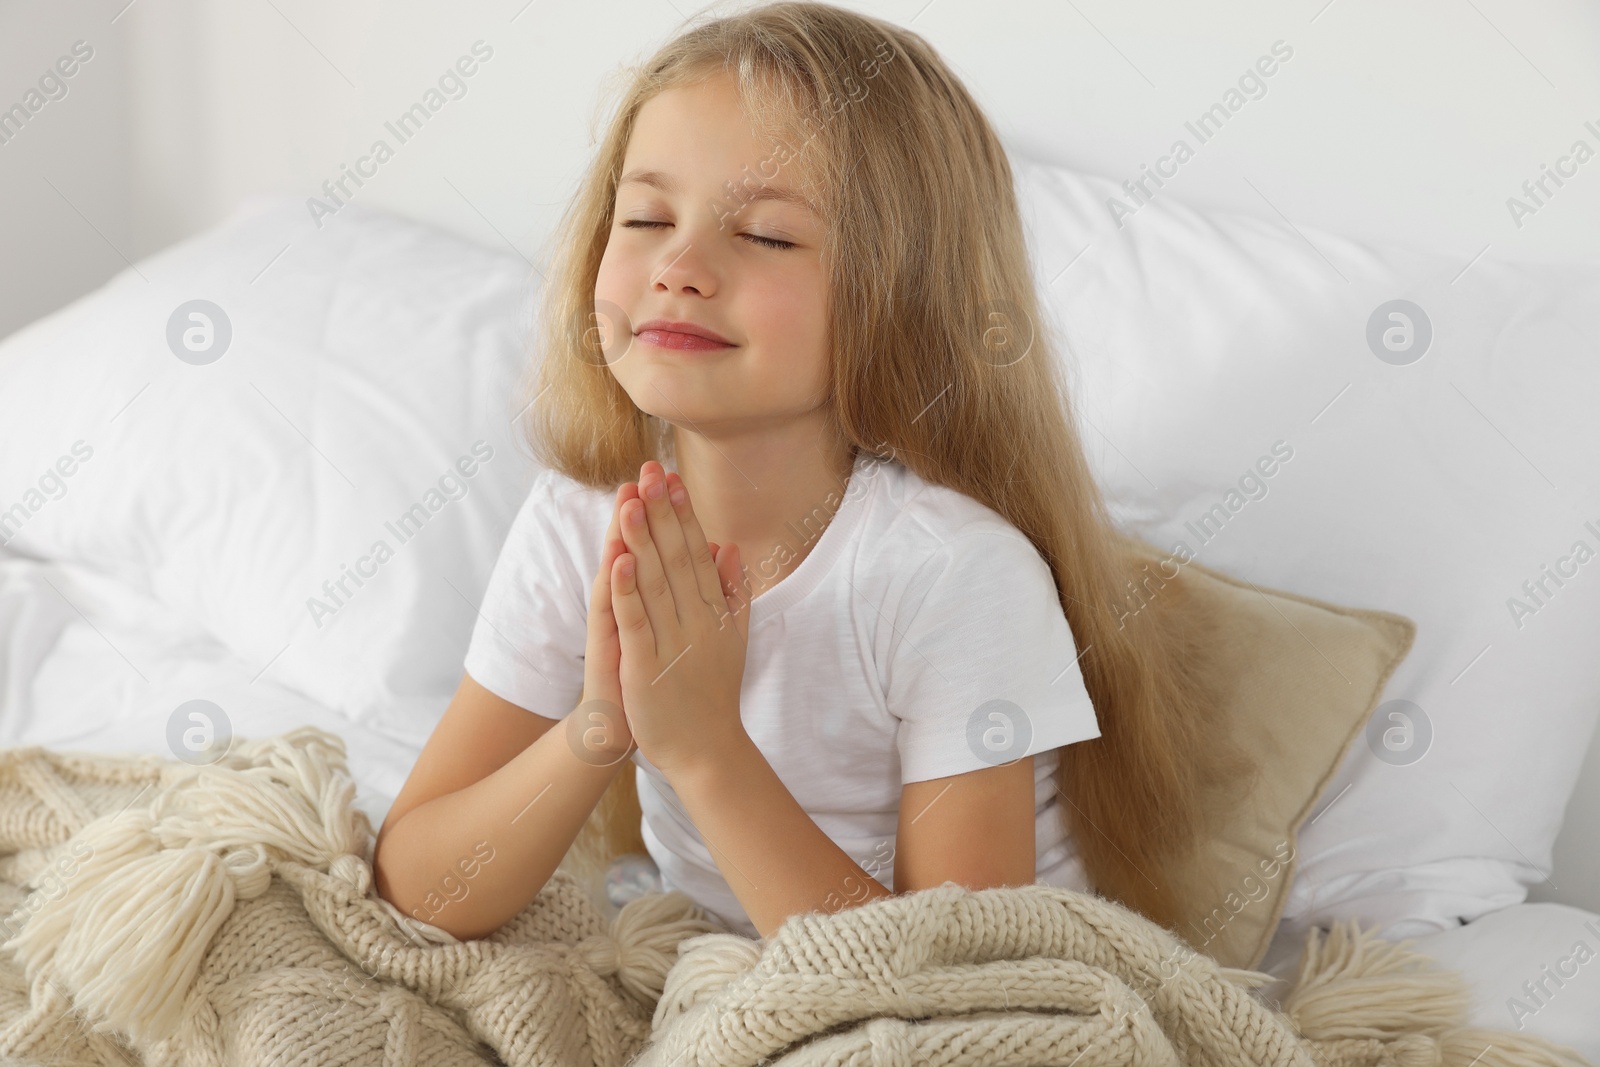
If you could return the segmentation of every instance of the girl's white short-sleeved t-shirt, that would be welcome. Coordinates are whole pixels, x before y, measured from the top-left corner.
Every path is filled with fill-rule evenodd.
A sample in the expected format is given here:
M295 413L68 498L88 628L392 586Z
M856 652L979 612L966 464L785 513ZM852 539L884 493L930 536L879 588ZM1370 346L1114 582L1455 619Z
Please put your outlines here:
M613 504L614 493L552 470L534 480L467 648L478 685L547 718L579 704ZM995 510L866 453L843 498L814 515L792 528L810 553L750 601L739 715L778 777L893 891L902 784L1030 755L1037 881L1090 891L1061 825L1054 749L1099 725L1043 557ZM776 573L776 561L746 566ZM642 752L630 758L662 886L757 937L672 785Z

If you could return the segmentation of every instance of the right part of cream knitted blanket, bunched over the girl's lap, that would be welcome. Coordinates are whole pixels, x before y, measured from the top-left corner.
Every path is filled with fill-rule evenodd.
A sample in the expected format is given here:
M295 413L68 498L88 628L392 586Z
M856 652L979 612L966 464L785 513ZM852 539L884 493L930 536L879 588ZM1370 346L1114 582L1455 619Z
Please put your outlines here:
M1406 944L1314 928L1280 1014L1250 992L1269 974L1102 897L944 883L794 915L762 945L683 942L635 1067L1584 1065L1542 1038L1464 1029L1461 976Z

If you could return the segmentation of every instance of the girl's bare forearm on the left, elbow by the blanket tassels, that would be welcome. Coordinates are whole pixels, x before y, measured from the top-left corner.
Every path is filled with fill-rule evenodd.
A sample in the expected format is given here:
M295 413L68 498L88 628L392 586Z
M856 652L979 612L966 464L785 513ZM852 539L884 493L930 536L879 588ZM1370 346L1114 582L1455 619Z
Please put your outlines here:
M456 937L494 933L533 901L627 758L586 761L563 721L472 785L419 805L373 856L378 893Z

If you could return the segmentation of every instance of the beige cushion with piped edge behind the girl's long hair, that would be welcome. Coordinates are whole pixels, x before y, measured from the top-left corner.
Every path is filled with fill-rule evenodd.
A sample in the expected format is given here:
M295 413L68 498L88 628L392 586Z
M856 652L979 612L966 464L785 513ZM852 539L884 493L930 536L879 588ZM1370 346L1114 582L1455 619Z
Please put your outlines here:
M1219 696L1259 766L1214 841L1170 870L1186 902L1176 933L1224 966L1254 968L1283 913L1299 827L1411 651L1416 624L1254 585L1195 561L1184 563L1176 581L1232 638L1218 664Z

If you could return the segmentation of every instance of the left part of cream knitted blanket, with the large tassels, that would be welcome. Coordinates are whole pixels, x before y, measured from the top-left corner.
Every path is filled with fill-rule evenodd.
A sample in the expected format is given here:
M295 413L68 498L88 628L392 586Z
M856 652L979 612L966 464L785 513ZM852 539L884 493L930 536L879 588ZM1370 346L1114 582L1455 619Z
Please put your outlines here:
M682 893L608 929L557 870L458 942L378 897L352 800L315 728L206 768L0 750L0 1064L621 1067L720 929Z

